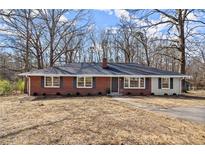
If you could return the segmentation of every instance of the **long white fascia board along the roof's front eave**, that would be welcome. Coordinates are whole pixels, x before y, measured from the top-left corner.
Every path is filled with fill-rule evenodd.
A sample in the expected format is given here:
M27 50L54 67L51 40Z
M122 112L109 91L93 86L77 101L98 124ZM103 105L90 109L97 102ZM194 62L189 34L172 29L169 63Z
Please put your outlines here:
M80 76L94 76L94 77L169 77L169 78L191 78L189 75L104 75L104 74L19 74L19 76L67 76L67 77L80 77Z

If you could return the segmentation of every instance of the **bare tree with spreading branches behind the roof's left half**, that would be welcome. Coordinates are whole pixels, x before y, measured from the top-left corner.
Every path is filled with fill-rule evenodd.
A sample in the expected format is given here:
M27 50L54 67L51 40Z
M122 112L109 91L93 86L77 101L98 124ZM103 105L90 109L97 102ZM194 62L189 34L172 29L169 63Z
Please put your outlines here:
M72 12L73 18L66 19L65 15ZM66 43L71 41L73 36L83 35L89 25L89 20L78 25L78 22L84 19L87 12L84 10L39 10L40 18L45 22L48 29L49 42L49 65L53 66L55 62L68 52ZM65 39L66 37L66 39ZM68 38L69 37L69 38ZM65 42L66 41L66 42ZM64 42L64 46L61 43ZM79 42L77 43L79 44ZM75 46L76 48L77 46ZM69 49L69 51L73 51Z

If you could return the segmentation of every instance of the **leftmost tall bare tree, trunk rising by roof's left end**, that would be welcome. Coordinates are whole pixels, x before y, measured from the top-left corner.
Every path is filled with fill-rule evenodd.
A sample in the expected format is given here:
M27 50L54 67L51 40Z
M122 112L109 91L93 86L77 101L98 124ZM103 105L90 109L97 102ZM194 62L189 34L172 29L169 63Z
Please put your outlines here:
M4 36L7 43L4 47L22 52L24 71L30 70L29 54L31 39L31 10L1 10L1 22L4 23ZM12 44L10 44L12 42Z

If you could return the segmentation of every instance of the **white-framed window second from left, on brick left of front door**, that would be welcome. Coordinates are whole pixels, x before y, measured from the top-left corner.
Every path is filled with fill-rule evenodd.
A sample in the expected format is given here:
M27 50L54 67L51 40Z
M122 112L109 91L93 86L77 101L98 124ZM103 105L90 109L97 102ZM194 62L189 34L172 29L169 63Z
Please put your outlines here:
M77 77L77 88L92 88L92 77Z

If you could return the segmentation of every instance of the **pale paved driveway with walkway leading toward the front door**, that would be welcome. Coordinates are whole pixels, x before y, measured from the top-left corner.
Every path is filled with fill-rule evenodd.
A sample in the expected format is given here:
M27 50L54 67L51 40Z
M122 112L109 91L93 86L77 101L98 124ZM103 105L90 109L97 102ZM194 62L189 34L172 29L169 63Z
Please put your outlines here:
M205 106L176 106L164 108L163 106L152 104L150 102L136 102L136 98L130 99L123 97L113 97L113 99L124 103L131 108L141 108L153 112L161 112L171 117L205 123Z

